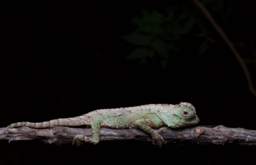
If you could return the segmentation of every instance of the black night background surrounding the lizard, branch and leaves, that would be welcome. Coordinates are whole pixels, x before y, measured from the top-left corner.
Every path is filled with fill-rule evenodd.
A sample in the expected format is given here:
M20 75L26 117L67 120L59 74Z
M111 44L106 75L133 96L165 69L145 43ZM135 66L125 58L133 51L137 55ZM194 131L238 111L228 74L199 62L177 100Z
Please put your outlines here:
M255 82L255 3L203 3L230 39L238 43L238 51ZM217 10L218 6L222 7ZM3 7L0 127L18 121L74 117L100 108L191 102L200 125L256 130L256 97L248 90L244 72L192 1L12 0ZM167 57L156 53L153 57L127 58L140 47L123 38L137 28L131 19L143 17L142 11L165 15L169 9L175 10L174 17L193 9L195 20L205 26L198 28L195 23L187 32L207 30L207 37L216 42L198 53L207 37L182 35L173 41L179 49L169 51ZM255 159L255 151L237 145L157 148L150 143L128 141L77 148L37 141L1 141L0 164L244 164Z

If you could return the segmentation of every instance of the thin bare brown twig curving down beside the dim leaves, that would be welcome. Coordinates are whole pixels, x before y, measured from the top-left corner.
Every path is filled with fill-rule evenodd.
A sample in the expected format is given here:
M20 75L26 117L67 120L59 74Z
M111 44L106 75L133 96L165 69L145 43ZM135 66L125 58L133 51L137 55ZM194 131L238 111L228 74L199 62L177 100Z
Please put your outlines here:
M247 79L247 83L248 83L248 87L250 92L256 96L256 90L253 87L253 82L251 80L251 76L250 76L250 72L248 71L248 68L246 66L246 64L244 63L241 55L238 53L238 51L236 50L236 48L233 46L233 44L231 43L230 39L227 37L227 35L224 33L224 31L221 29L220 26L218 26L218 24L216 23L216 21L212 18L212 15L209 13L209 11L204 7L204 5L199 1L199 0L194 0L194 2L197 4L197 6L203 11L203 13L205 14L205 16L209 19L209 21L212 23L212 26L215 28L216 31L218 31L218 33L221 35L221 37L223 38L223 40L227 43L227 45L230 47L231 51L233 52L233 54L236 56L236 59L238 60L238 62L241 65L241 68L244 71L245 77Z

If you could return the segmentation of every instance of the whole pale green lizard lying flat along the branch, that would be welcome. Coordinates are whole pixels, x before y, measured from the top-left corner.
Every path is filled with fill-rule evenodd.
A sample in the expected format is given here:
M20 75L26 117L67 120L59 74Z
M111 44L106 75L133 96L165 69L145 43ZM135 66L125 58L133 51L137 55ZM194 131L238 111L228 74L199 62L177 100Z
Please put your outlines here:
M182 128L196 125L198 122L199 117L196 115L195 107L188 102L180 102L175 105L148 104L126 108L98 109L78 117L53 119L46 122L16 122L7 127L91 126L92 137L76 135L73 138L73 145L81 145L82 142L98 144L100 127L114 129L139 128L151 135L153 144L161 147L164 139L153 128L162 126Z

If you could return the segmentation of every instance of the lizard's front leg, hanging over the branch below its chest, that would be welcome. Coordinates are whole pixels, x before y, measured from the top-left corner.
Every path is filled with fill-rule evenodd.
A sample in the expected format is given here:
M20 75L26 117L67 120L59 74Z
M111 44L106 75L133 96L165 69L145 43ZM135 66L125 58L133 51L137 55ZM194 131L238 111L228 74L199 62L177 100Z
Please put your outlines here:
M143 131L151 135L153 145L157 145L158 147L161 147L162 144L164 143L163 137L160 134L158 134L156 131L154 131L152 128L150 128L148 125L146 125L146 123L147 123L147 119L140 119L135 122L137 127L139 127L140 129L142 129Z

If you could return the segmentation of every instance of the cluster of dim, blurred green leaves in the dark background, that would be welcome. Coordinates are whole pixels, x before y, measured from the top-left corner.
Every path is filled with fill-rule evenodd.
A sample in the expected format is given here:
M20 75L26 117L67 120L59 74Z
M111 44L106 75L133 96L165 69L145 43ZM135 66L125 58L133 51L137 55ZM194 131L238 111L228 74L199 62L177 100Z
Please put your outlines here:
M141 17L132 18L136 28L122 37L136 46L127 59L146 61L157 58L165 68L172 54L183 48L188 37L195 40L191 45L198 47L196 54L206 54L214 43L209 32L212 27L198 7L190 3L163 6L158 10L143 9ZM224 12L230 15L232 12L231 1L202 0L202 3L213 14Z

